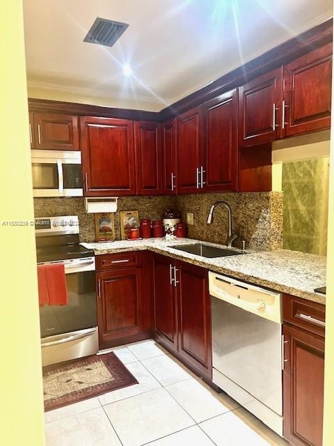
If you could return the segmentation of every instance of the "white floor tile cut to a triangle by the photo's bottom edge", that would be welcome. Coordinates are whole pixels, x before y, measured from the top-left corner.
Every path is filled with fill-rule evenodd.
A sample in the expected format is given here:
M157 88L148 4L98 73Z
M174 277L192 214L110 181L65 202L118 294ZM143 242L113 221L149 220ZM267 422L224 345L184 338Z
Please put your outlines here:
M150 443L149 446L214 446L208 436L198 426L192 426L183 431Z

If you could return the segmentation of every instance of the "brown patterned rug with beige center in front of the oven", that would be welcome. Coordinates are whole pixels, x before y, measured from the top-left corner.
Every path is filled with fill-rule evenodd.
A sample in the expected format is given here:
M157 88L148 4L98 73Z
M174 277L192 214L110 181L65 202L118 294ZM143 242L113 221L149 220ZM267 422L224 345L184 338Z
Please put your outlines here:
M51 365L43 369L45 412L134 384L113 352Z

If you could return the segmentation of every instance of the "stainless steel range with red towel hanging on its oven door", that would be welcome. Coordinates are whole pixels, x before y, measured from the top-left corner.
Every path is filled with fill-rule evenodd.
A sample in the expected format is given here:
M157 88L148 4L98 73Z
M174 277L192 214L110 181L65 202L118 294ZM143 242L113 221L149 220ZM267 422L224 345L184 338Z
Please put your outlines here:
M62 263L67 305L40 307L42 364L93 355L99 349L95 293L95 256L79 243L77 216L35 220L39 265Z

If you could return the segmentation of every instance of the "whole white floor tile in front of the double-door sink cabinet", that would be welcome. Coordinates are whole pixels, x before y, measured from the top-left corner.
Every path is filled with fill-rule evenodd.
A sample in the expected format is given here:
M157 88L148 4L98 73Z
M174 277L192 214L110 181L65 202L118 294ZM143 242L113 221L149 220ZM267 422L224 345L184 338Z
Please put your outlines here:
M141 362L162 385L179 383L191 378L191 375L185 369L182 369L167 355L151 357Z

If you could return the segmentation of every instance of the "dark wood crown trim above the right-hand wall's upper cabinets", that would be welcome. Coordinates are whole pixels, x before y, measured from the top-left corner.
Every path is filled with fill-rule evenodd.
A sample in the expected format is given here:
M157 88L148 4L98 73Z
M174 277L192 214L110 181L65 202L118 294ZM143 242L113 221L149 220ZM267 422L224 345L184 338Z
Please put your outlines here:
M190 95L178 100L172 105L161 110L161 121L177 116L186 110L196 107L209 99L212 99L225 91L241 86L253 77L278 68L304 54L332 42L333 20L315 26L287 42L278 45L265 52L261 56L245 63L243 66L219 77L211 84Z

